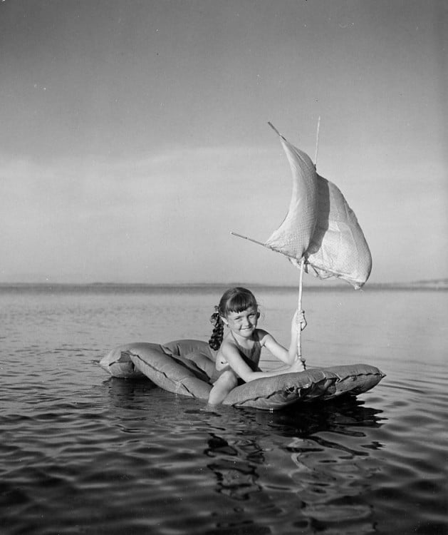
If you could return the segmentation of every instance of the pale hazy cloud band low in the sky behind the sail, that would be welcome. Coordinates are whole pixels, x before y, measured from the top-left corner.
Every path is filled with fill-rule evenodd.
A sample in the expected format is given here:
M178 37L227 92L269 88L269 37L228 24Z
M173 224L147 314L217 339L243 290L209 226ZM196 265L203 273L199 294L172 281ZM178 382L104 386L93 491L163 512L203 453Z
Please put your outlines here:
M374 274L422 277L427 266L415 248L429 235L446 242L442 165L405 158L390 165L375 148L348 158L325 147L321 162L358 215ZM291 172L274 143L173 148L132 160L3 157L0 166L4 276L30 266L53 277L127 282L278 277L269 253L229 236L264 240L286 213ZM434 276L443 260L435 249Z

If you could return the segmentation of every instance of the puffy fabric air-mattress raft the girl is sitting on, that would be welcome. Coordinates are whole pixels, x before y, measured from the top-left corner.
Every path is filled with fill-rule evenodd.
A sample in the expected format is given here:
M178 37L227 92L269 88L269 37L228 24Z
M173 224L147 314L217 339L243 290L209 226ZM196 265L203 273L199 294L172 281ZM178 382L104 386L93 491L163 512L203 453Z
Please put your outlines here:
M116 347L100 361L113 377L148 377L168 392L207 400L215 352L207 342L175 340L166 344L136 342ZM224 404L278 410L296 402L358 395L375 387L385 375L375 366L356 364L311 368L256 379L234 388Z

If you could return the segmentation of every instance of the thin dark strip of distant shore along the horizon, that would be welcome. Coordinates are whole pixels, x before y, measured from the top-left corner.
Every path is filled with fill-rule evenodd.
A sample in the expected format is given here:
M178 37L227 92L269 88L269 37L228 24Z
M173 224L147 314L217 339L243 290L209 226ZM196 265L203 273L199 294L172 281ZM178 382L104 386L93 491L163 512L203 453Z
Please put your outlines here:
M194 283L143 283L143 282L86 282L86 283L70 283L70 282L0 282L0 291L8 290L34 290L34 291L56 291L63 292L68 291L172 291L172 290L189 290L189 291L204 291L204 290L223 290L235 285L249 285L253 288L262 290L291 290L296 291L297 287L293 285L271 285L260 283L219 283L219 282L194 282ZM350 287L348 283L332 281L327 284L321 285L306 285L306 290L314 292L340 292L350 291L353 287ZM440 280L420 280L416 282L374 282L367 283L360 291L384 291L384 290L431 290L431 291L444 291L448 290L448 279ZM356 290L353 290L356 291Z

